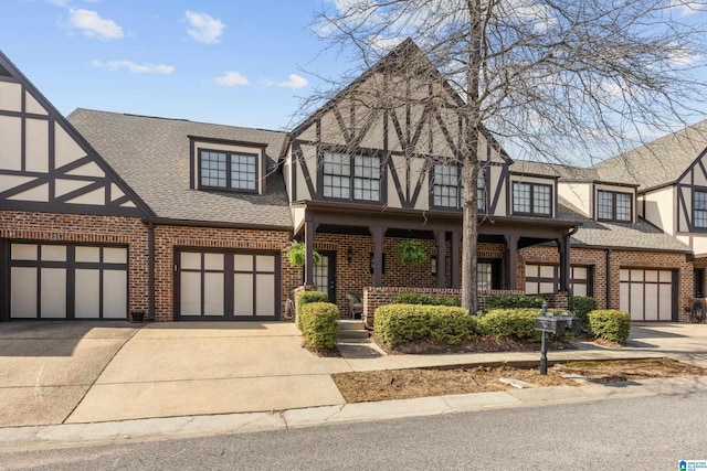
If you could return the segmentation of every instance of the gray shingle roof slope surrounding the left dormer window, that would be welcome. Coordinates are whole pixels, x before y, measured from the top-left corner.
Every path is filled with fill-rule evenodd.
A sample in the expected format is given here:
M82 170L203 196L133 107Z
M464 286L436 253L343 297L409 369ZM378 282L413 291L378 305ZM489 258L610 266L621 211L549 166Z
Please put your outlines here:
M68 120L159 218L292 229L276 164L284 132L81 108ZM266 193L190 190L189 136L265 144Z

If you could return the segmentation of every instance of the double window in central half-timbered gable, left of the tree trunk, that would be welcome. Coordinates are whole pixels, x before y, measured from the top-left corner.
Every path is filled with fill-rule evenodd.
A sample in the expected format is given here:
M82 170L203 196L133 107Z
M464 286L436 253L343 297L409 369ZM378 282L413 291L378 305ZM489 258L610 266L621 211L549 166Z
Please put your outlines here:
M380 158L327 152L324 154L323 194L355 201L380 201Z

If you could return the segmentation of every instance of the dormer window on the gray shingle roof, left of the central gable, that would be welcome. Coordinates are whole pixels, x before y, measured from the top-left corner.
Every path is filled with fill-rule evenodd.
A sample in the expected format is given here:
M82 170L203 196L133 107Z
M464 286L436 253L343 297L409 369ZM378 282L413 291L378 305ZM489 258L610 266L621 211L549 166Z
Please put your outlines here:
M257 190L257 156L255 154L200 150L199 170L202 188Z

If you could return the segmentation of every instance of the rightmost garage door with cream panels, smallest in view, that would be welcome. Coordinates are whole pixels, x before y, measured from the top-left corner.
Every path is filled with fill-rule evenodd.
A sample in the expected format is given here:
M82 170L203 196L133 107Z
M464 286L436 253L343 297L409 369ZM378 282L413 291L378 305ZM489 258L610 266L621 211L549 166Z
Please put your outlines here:
M673 271L621 269L620 309L632 321L673 320Z

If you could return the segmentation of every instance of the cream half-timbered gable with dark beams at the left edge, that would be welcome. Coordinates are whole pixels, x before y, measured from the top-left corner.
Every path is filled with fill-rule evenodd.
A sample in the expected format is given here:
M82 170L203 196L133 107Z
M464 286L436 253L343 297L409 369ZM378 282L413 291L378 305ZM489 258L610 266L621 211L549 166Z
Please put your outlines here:
M0 51L0 117L8 126L0 208L150 216L150 210ZM15 130L17 129L17 130ZM17 139L10 136L14 131Z

